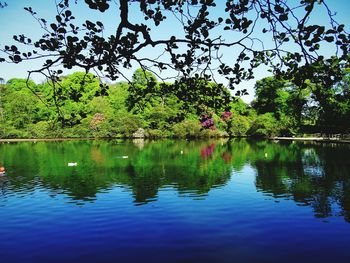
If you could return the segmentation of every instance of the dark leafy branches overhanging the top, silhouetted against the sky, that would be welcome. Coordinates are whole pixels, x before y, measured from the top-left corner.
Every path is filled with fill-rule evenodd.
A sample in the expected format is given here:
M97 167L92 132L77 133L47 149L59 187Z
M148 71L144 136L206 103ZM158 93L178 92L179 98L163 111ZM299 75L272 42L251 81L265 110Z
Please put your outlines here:
M98 13L114 8L115 32L106 34L102 21L79 24L74 5ZM40 10L30 6L25 10L37 20L43 35L39 39L25 32L14 36L17 44L3 46L6 56L0 60L43 59L42 67L29 74L41 73L52 80L62 74L56 66L95 70L115 80L123 76L121 68L134 63L157 72L171 69L185 79L221 74L233 88L266 64L297 85L319 71L326 74L318 77L333 84L342 78L340 68L349 65L349 35L324 0L61 0L50 21L37 13ZM316 10L330 21L328 25L313 23ZM139 12L140 19L133 21L131 12ZM159 36L157 27L163 24L178 26L182 33ZM150 48L161 53L155 58L144 56L142 52ZM334 56L322 55L329 48ZM222 58L224 50L233 57Z

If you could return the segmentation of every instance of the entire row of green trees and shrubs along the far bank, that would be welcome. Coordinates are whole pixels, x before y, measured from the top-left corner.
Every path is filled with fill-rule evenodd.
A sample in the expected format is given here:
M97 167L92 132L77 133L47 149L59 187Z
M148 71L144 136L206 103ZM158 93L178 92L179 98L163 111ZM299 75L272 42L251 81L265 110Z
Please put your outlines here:
M350 76L333 87L267 77L252 105L201 78L159 83L135 71L132 82L100 85L76 72L57 83L0 84L0 137L221 137L349 132ZM142 129L142 130L141 130Z

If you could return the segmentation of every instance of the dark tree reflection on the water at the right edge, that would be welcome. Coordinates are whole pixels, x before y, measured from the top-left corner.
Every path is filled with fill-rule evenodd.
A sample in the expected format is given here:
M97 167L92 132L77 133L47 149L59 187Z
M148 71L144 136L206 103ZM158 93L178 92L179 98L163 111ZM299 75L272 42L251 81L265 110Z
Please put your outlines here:
M257 190L311 206L316 217L341 215L350 222L349 145L258 142L251 146Z

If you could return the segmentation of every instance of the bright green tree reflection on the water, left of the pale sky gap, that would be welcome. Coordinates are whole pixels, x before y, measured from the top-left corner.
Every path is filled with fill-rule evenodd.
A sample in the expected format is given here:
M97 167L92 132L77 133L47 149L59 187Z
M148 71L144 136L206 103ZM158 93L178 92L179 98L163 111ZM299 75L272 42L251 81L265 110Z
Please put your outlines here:
M201 150L214 146L202 156ZM221 154L227 144L186 141L66 141L3 144L1 161L14 189L31 190L41 182L73 199L90 200L113 185L132 190L135 202L154 199L161 187L205 194L230 178L230 163ZM127 158L126 158L127 157ZM78 165L69 167L68 163Z

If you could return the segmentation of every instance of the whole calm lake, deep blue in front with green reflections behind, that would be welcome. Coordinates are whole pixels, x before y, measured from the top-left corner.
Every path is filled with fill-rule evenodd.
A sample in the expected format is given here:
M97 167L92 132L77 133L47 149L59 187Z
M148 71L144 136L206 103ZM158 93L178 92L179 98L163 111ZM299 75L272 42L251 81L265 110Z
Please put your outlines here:
M3 143L0 262L350 262L349 161L310 142Z

